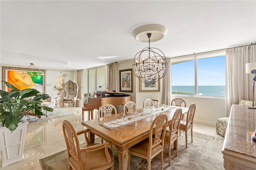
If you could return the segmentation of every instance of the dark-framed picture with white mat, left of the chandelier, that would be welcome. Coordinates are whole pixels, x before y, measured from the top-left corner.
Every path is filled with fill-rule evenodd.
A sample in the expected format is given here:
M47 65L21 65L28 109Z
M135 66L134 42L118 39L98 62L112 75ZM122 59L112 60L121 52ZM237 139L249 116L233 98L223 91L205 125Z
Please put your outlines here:
M132 69L119 70L120 91L132 92L133 75Z

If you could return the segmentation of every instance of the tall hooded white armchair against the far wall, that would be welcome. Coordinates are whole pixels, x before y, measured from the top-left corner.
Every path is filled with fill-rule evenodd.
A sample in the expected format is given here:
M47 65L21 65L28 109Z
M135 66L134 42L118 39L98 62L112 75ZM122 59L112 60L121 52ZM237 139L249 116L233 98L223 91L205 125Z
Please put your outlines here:
M76 106L76 98L78 95L78 84L72 80L69 80L66 85L64 86L64 91L66 93L66 97L63 99L64 103L73 103L73 106Z

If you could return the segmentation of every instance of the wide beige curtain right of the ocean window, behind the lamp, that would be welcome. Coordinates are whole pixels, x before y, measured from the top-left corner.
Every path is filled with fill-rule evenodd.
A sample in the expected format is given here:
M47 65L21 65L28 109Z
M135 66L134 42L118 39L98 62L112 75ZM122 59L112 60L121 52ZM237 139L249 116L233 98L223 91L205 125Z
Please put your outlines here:
M232 104L252 101L252 75L245 73L245 64L252 62L256 62L255 45L226 49L226 117Z

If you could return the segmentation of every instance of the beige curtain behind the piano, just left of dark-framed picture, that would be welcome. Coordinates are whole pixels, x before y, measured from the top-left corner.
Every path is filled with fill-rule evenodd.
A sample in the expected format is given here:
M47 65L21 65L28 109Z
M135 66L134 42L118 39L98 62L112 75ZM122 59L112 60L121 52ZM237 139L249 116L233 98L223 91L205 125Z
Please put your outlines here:
M116 90L116 63L107 64L107 89Z

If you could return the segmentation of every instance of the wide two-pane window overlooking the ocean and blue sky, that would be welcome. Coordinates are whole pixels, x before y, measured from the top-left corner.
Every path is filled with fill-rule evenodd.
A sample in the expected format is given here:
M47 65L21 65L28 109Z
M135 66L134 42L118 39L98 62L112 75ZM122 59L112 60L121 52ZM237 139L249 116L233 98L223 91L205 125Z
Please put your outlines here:
M193 57L172 60L172 94L226 96L225 55Z

